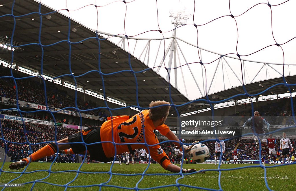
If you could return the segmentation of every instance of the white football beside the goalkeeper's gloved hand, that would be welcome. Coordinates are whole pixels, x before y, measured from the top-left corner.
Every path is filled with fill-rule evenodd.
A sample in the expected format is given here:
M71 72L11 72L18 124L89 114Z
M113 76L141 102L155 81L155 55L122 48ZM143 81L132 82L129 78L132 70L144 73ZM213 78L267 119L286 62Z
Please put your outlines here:
M203 163L210 157L210 151L207 145L198 143L191 148L190 156L193 161Z

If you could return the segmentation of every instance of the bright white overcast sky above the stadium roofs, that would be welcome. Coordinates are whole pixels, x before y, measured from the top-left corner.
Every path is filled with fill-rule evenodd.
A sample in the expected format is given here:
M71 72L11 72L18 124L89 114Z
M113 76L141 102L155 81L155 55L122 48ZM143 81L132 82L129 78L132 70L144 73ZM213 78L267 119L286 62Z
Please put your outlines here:
M172 36L171 30L173 29L174 25L171 24L171 17L169 17L169 12L170 10L175 10L179 7L184 6L191 14L191 17L189 17L189 19L187 20L187 25L181 26L177 29L177 37L194 45L197 45L198 37L199 47L217 52L222 55L232 53L233 55L230 55L232 57L236 57L235 55L237 53L240 55L252 54L253 52L258 51L266 46L273 45L275 43L285 43L296 36L296 12L294 11L294 8L296 7L296 1L292 0L279 6L271 6L271 8L267 5L267 1L232 0L230 1L230 10L229 1L224 0L195 1L195 9L193 0L181 1L181 4L179 3L179 0L134 0L127 2L126 4L122 1L111 0L41 0L41 2L49 7L52 7L53 9L60 10L61 13L71 17L72 19L91 29L111 34L126 34L128 36L135 36L138 38L163 38L163 36ZM255 7L250 9L252 6L260 2L264 4L256 5ZM282 2L284 1L269 1L271 5L280 4ZM95 7L95 4L98 7ZM70 11L67 12L65 11L65 9L69 9ZM247 12L244 13L245 11ZM229 16L222 17L230 14L238 17L234 17L235 20L234 18ZM222 18L210 22L211 20L214 20L218 17ZM235 21L237 22L237 26ZM207 22L210 23L203 25ZM197 27L198 33L196 27L194 27L193 25L194 23L196 25L203 25ZM237 35L237 27L239 30L239 37ZM159 33L158 30L163 31L163 33ZM115 37L110 38L110 40L115 43L120 41L119 38ZM243 56L241 58L253 61L262 61L263 63L267 62L282 64L285 61L285 64L295 64L295 41L296 40L292 40L289 43L281 46L284 50L284 56L280 47L271 46L269 48L265 48L262 51L259 51L258 53L252 54L250 56ZM135 41L129 40L128 42L130 45L130 52L133 53ZM146 43L147 41L137 43L136 51L134 53L135 56L139 57ZM156 55L159 43L160 41L153 41L151 43L151 58L149 61L150 67L153 66L156 56L156 65L158 66L164 54L165 47L164 43L162 43L159 54ZM166 48L169 43L170 40L165 41ZM197 48L193 48L192 46L189 46L186 43L182 43L180 41L178 41L178 43L180 43L181 49L184 53L184 56L186 57L187 62L191 63L200 61L197 54ZM128 49L127 45L125 48ZM144 59L144 54L141 57L142 59L140 58L141 60ZM179 55L181 57L181 65L185 64L185 61L182 58L180 52ZM218 57L219 55L210 54L202 51L203 63L210 63ZM167 56L164 64L162 64L163 67L168 66L168 60L169 57ZM240 61L227 58L226 60L228 61L229 65L234 70L236 75L240 78L240 81L242 81ZM144 62L147 64L147 56ZM212 80L217 64L218 61L215 61L212 64L208 64L205 66L207 71L207 88L209 88L209 84ZM245 62L245 64L246 71L244 74L244 81L246 83L249 83L255 77L263 64L251 62ZM190 64L190 67L203 93L201 65ZM283 66L273 65L272 67L282 73ZM182 67L182 69L189 99L192 100L201 97L202 93L200 93L197 86L195 85L188 66L184 66ZM226 62L223 62L223 70L225 72L224 83L226 89L233 86L241 85L239 80L235 77L229 66L226 64ZM178 88L180 88L181 92L185 94L185 87L182 80L183 77L181 75L180 69L178 69L177 71ZM160 74L165 77L165 70L161 69ZM290 74L296 74L295 66L290 67ZM266 79L266 75L267 78L280 76L271 67L267 67L267 71L265 70L265 67L263 67L263 70L257 75L257 77L255 77L254 81L264 80ZM285 67L285 75L289 75L288 67ZM172 74L171 80L173 79L174 76ZM174 82L172 81L171 83L174 84ZM220 63L218 71L215 74L210 93L217 92L223 89L224 84L222 64Z

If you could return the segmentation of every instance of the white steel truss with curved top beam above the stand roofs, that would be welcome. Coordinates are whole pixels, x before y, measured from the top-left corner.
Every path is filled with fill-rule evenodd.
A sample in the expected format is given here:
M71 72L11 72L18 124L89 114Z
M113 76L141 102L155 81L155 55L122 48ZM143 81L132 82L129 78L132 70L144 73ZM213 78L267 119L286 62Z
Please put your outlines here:
M189 100L260 80L296 75L295 63L263 63L222 55L178 38L176 30L177 24L174 25L173 35L167 38L134 38L101 31L97 33L107 39L120 38L118 46L162 75ZM201 59L210 60L204 65L205 68L200 63Z

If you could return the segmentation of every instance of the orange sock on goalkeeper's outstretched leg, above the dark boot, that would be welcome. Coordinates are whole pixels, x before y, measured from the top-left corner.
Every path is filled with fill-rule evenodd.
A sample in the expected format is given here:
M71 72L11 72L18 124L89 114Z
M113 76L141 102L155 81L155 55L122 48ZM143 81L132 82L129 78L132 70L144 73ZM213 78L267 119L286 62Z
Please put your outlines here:
M48 145L37 150L35 153L31 154L27 158L23 158L22 161L27 161L27 164L28 164L29 162L34 162L40 158L51 156L56 152L57 152L57 145L55 143L49 143Z

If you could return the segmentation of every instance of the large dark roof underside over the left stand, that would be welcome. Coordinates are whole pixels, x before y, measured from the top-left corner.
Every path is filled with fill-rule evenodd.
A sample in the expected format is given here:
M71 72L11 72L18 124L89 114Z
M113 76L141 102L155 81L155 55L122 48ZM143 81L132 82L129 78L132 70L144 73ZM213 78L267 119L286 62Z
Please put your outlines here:
M21 46L13 52L13 61L12 51L1 48L1 60L36 72L41 72L42 68L43 74L50 77L64 75L60 77L64 82L75 84L76 81L77 85L101 94L105 90L108 97L126 101L130 105L136 105L137 96L140 106L145 107L152 100L170 101L170 95L175 104L189 101L173 86L169 95L169 82L134 56L130 57L130 65L127 51L100 35L96 36L95 31L45 5L40 7L44 15L39 15L39 3L36 1L15 1L14 5L13 2L1 1L0 36L3 37L2 43L6 41L4 43L10 44L13 34L12 44L20 43ZM12 6L15 17L11 15ZM43 47L39 44L39 33ZM130 71L131 67L135 73ZM105 75L99 74L99 68Z

